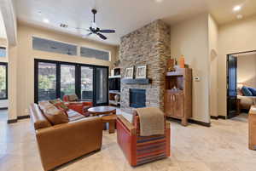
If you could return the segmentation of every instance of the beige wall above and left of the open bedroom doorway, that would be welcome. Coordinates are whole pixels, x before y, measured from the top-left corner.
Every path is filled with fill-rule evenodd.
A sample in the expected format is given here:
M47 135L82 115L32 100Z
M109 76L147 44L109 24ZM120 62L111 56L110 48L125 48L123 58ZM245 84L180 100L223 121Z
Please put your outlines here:
M227 115L227 54L256 50L256 16L219 27L218 36L218 114Z

